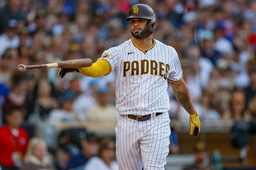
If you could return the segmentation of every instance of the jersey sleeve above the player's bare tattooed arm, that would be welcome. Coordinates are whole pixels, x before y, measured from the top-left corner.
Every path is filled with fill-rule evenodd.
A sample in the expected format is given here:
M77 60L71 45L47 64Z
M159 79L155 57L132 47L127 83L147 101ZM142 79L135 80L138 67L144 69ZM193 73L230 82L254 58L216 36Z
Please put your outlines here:
M174 52L173 52L174 51ZM167 80L173 83L177 83L182 80L182 69L180 65L180 59L174 48L172 48L172 60L170 63L170 74L167 77Z

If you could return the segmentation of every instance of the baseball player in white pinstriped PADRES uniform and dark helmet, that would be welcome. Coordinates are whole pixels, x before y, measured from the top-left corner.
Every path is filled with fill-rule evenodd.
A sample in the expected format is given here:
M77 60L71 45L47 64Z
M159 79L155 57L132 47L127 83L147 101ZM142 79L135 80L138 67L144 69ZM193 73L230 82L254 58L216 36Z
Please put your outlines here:
M167 85L190 115L190 135L197 136L200 122L182 79L180 60L174 48L152 38L156 16L146 4L131 7L133 38L105 50L91 67L60 69L100 77L116 74L116 156L120 170L163 170L169 152L170 118ZM104 114L104 113L102 113Z

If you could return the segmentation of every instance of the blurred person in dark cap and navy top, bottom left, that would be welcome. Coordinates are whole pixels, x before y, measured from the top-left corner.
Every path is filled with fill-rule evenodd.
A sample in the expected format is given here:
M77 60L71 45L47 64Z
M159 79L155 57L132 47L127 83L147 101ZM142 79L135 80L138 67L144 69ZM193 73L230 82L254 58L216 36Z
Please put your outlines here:
M94 133L84 134L81 138L82 150L78 154L70 155L65 169L83 168L87 161L98 153L98 140Z

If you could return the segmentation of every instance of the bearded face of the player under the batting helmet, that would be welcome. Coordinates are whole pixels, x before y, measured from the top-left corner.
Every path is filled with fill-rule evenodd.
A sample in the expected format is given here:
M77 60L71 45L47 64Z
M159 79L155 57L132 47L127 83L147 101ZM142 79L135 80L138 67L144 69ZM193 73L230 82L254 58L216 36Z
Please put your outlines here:
M140 40L141 38L139 36L139 33L140 31L146 28L147 23L148 23L147 19L131 18L130 30L131 30L132 36L137 40Z

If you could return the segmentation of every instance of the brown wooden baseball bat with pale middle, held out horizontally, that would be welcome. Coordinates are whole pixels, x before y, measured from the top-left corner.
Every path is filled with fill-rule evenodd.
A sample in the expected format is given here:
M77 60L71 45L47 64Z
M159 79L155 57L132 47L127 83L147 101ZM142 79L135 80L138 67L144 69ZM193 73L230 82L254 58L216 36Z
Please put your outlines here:
M84 58L84 59L61 61L61 62L50 63L50 64L39 64L39 65L19 64L17 68L19 71L25 71L27 69L41 69L41 68L80 68L80 67L90 67L91 65L92 65L92 60L90 58Z

